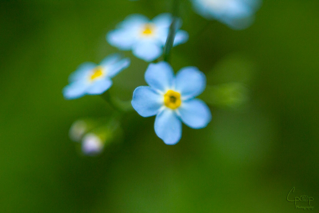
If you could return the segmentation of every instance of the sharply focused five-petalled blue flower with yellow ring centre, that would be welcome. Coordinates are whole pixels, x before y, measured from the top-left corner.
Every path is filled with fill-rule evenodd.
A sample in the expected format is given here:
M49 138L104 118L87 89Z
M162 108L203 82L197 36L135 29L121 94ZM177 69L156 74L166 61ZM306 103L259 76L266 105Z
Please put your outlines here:
M200 129L211 121L211 112L195 98L206 87L206 77L197 67L182 68L176 76L166 62L150 64L145 72L149 86L134 90L132 106L143 117L156 115L155 133L166 144L174 145L182 137L182 122Z

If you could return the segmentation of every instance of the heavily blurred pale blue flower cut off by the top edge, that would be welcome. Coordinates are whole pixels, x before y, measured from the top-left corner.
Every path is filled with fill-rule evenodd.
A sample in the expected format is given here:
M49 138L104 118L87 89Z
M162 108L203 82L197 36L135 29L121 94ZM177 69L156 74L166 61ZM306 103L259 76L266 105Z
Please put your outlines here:
M249 27L261 0L192 0L195 11L206 19L217 19L233 29Z

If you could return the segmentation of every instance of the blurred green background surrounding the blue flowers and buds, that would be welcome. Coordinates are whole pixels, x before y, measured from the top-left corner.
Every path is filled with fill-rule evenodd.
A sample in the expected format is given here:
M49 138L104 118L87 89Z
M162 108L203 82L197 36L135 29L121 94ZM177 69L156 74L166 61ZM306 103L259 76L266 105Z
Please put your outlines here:
M318 0L265 0L243 31L207 25L182 1L190 38L172 50L175 71L194 65L212 87L240 83L247 102L212 105L209 126L183 126L175 146L155 135L154 117L131 113L122 143L98 157L79 153L69 127L111 108L98 96L64 100L67 77L118 51L105 34L127 15L153 18L171 1L1 1L0 9L1 212L293 212L293 186L319 212ZM131 66L111 90L129 100L146 84L147 63L124 55Z

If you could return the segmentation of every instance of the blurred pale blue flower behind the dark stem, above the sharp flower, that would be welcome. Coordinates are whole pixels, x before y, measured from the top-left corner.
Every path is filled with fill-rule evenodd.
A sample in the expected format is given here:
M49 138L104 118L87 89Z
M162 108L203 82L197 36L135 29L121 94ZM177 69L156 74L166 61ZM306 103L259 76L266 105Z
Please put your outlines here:
M121 49L132 50L133 54L145 61L153 61L162 55L169 26L172 23L172 15L163 13L149 20L139 14L128 16L115 30L110 31L106 39L108 42ZM178 21L174 46L188 40L188 33L178 30L181 21Z

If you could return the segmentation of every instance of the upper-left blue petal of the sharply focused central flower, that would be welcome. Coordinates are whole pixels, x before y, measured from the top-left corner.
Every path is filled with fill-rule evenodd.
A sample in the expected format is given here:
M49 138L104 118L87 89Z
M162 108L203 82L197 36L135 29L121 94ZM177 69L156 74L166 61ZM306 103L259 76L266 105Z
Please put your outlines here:
M158 62L148 65L145 72L145 81L152 88L165 92L170 89L174 81L174 72L167 62Z

